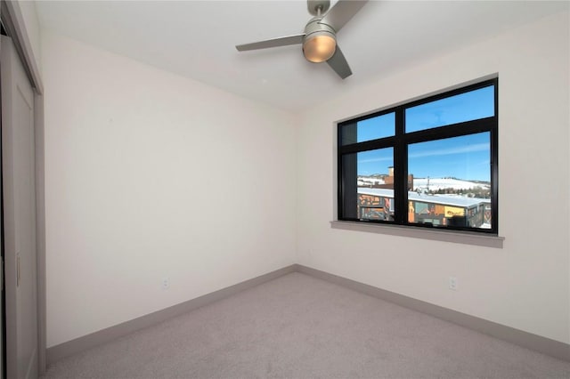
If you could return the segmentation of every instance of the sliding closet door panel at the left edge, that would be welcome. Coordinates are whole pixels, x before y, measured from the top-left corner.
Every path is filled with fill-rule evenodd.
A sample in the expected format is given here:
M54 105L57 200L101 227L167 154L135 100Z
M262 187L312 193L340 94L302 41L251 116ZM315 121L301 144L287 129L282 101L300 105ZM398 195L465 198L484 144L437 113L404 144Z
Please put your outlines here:
M6 367L9 378L36 378L34 93L9 37L1 53Z

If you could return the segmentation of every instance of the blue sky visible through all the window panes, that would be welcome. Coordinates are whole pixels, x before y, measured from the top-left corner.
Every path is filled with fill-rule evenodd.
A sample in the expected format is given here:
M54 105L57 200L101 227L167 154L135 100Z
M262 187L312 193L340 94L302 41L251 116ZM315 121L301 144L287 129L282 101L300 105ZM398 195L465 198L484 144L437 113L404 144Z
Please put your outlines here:
M406 109L406 131L452 125L494 114L493 86L462 93ZM369 141L395 133L394 114L358 123L357 140ZM358 174L387 173L394 165L394 149L358 153ZM416 143L408 149L409 173L415 177L455 177L463 180L491 181L490 133L477 133L439 141Z

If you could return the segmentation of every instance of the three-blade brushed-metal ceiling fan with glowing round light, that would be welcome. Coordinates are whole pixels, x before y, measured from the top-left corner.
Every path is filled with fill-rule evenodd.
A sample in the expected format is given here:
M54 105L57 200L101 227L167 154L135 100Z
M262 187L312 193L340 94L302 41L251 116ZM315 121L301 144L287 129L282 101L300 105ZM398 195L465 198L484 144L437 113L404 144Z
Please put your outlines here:
M330 0L307 0L309 13L314 17L305 25L305 32L294 36L280 36L251 44L238 44L239 52L268 47L303 44L306 60L314 63L326 61L341 78L352 75L352 70L337 44L337 33L353 18L368 0L338 0L330 8ZM327 12L329 11L329 12Z

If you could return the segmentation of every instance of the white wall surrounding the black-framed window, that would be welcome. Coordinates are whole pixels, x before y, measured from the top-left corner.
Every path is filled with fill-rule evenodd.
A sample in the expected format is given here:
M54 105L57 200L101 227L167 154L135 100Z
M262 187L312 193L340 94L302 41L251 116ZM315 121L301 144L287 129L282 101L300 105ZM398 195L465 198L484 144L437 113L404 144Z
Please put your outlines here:
M297 136L297 261L569 343L568 30L568 13L558 13L305 112ZM336 120L493 73L503 249L330 229ZM447 289L450 276L459 278L458 291Z

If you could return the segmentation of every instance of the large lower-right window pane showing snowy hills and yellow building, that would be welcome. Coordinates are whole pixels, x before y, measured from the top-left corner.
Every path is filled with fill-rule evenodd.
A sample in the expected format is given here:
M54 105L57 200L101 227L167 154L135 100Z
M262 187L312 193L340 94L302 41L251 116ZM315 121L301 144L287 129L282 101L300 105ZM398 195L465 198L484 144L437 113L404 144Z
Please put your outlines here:
M488 132L408 147L408 222L491 228L491 135Z

